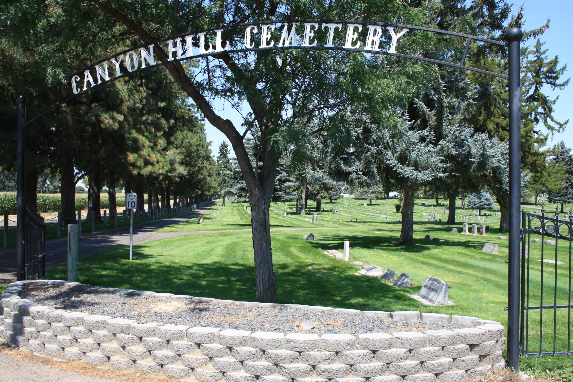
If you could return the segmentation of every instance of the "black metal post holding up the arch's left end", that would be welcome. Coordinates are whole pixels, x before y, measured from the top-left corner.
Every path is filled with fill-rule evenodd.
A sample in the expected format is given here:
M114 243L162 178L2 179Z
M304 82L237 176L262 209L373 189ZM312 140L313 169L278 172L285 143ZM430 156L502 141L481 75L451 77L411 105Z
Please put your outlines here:
M28 97L18 96L18 144L17 144L17 196L16 196L16 279L26 279L26 206L24 204L24 151L26 137L26 103Z

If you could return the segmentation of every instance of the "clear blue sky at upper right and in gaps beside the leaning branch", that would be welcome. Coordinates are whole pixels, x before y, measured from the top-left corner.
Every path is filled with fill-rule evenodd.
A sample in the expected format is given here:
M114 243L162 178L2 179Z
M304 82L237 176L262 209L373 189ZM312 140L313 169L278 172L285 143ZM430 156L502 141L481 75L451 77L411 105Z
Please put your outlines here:
M548 56L559 56L559 64L567 64L565 78L571 77L573 73L573 44L571 43L571 15L573 15L573 0L521 0L517 1L513 7L513 13L517 12L519 6L525 7L525 29L533 29L543 25L547 18L551 18L550 27L541 36L541 41L545 42L544 48L548 49ZM534 44L535 41L525 42L525 44ZM554 116L558 121L570 120L564 132L556 134L548 140L548 145L552 146L558 141L565 141L567 147L573 147L573 84L568 85L564 90L545 89L552 97L559 96L555 104ZM223 104L222 101L215 100L213 106L223 118L230 119L242 132L240 128L242 117L233 110L230 105ZM211 151L217 155L219 144L223 140L229 143L222 132L214 128L209 122L205 122L207 140L212 141ZM230 146L230 143L229 143ZM232 148L231 148L232 150ZM232 155L232 154L231 154Z

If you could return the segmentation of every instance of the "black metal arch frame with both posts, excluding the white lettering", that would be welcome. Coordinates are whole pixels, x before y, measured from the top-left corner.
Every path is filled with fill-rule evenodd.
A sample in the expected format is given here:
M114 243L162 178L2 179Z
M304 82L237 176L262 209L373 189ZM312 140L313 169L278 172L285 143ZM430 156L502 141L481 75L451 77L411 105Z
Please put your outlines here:
M374 25L380 27L398 27L398 28L407 28L409 30L418 30L418 31L427 31L433 32L438 34L443 34L446 36L453 36L453 37L461 37L466 39L465 49L462 53L462 58L459 63L456 62L448 62L442 60L435 60L433 58L426 58L421 56L410 56L407 54L399 54L399 53L390 53L390 52L383 52L383 51L376 51L376 50L367 50L367 49L351 49L351 48L341 48L335 46L288 46L288 47L279 47L273 46L270 48L251 48L251 49L234 49L234 50L224 50L225 53L239 53L239 52L257 52L258 50L272 50L272 49L313 49L313 50L341 50L341 51L350 51L350 52L362 52L362 53L371 53L371 54L384 54L387 56L394 56L394 57L402 57L402 58L410 58L413 60L419 61L426 61L433 64L440 64L446 66L453 66L454 68L465 69L465 70L472 70L474 72L488 74L490 76L495 76L499 78L504 78L508 80L508 88L509 88L509 266L508 266L508 328L507 328L507 336L508 336L508 352L507 352L507 361L509 367L515 369L516 371L519 370L519 352L520 352L520 342L519 342L519 261L520 261L520 187L521 187L521 130L520 130L520 41L522 38L521 29L517 27L512 27L507 30L505 33L505 40L507 42L501 42L496 40L490 40L488 38L472 36L469 34L464 33L457 33L452 31L446 30L439 30L439 29L431 29L427 27L420 27L420 26L413 26L413 25L403 25L398 23L380 23L380 22L367 22L367 21L344 21L344 20L331 20L331 19L295 19L295 20L267 20L267 21L254 21L254 22L245 22L245 23L235 23L230 25L221 25L210 27L207 29L192 31L188 33L177 34L172 37L164 37L150 44L142 44L136 46L135 48L124 50L123 52L119 52L114 54L113 56L104 58L80 70L79 72L73 73L73 76L77 75L78 73L84 72L90 68L93 68L95 65L102 64L105 61L111 60L113 57L117 57L120 54L126 54L128 52L132 52L135 49L140 49L143 47L147 47L150 45L159 46L159 42L167 41L167 40L175 40L179 37L184 37L189 34L198 34L207 31L213 31L218 29L230 28L230 27L239 27L239 26L254 26L254 25L265 25L265 24L286 24L286 23L346 23L346 24L359 24L359 25ZM508 76L500 73L488 72L487 70L482 70L478 68L474 68L472 66L465 65L466 57L468 54L469 46L472 41L480 41L487 44L494 44L500 46L506 46L508 48ZM190 57L182 57L180 59L175 58L175 60L183 61L189 60L191 58L198 58L198 57L205 57L205 56L217 56L218 53L221 52L211 52L207 54L201 54L197 56L190 56ZM148 66L148 67L155 67L155 66L162 66L166 65L169 62L158 62L155 65ZM72 96L65 97L64 99L56 101L53 105L46 105L46 99L48 98L46 94L56 88L56 86L63 85L62 82L57 82L56 84L50 86L48 89L44 90L43 92L36 94L33 96L31 100L40 100L41 101L41 111L37 113L37 115L33 116L31 119L26 121L25 113L26 113L26 103L28 103L28 99L25 96L19 96L17 99L18 103L18 147L17 147L17 158L18 158L18 184L17 184L17 221L24 222L25 221L25 205L23 200L23 174L24 174L24 137L25 137L25 127L26 124L38 119L45 113L52 111L54 108L58 107L66 103L69 100L72 100L74 97L79 96L79 94L85 93L97 85L103 85L107 82L111 82L116 80L117 78L128 76L131 73L138 72L141 69L133 70L129 73L122 74L120 76L115 76L110 78L106 81L101 81L99 84L95 84L91 86L89 89L85 91L78 92L77 94L73 94ZM117 74L117 73L116 73ZM25 225L19 223L17 225L17 235L16 235L16 248L17 248L17 265L16 265L16 274L17 279L22 280L25 278Z

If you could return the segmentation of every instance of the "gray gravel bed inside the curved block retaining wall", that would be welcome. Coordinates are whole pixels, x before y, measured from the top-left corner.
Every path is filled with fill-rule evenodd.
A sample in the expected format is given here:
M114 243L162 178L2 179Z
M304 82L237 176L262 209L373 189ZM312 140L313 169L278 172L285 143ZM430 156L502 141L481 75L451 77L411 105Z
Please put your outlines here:
M455 329L446 323L410 322L348 313L317 312L308 309L273 309L229 302L193 302L189 298L138 296L131 292L99 293L89 285L30 286L21 296L38 304L90 314L129 318L139 322L163 322L221 329L303 332L302 323L316 327L305 333L383 333Z

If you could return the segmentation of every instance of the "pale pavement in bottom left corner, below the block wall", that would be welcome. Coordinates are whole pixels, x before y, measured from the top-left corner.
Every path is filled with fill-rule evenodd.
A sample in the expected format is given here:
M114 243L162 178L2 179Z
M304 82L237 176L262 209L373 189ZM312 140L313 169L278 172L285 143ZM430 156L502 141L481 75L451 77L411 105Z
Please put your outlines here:
M115 382L71 371L60 370L39 362L0 353L0 381L3 382Z

